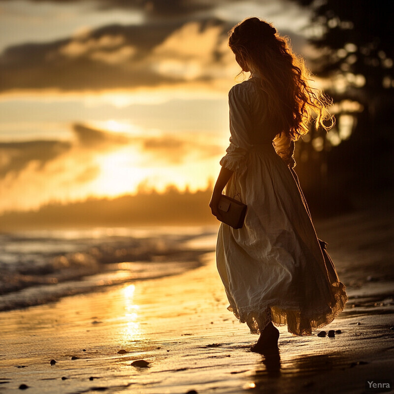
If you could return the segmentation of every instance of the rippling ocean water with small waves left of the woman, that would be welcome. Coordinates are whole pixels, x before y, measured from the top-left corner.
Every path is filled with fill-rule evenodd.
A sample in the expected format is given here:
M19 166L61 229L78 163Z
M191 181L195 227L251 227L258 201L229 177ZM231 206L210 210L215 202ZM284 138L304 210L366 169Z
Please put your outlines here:
M95 228L0 234L0 311L201 266L217 227Z

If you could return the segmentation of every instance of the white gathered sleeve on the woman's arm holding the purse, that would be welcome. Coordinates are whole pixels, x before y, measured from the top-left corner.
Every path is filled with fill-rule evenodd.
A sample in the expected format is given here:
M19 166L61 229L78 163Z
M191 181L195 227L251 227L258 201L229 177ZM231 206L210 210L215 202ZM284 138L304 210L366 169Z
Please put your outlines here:
M250 95L243 84L235 85L229 92L230 145L220 165L231 171L242 173L246 169L246 158L250 149L248 130L251 130Z

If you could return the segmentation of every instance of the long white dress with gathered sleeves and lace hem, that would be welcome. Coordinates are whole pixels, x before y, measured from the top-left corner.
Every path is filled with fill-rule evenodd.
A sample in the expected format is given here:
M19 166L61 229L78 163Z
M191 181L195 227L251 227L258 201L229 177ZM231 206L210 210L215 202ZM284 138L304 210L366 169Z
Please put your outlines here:
M259 78L232 87L230 146L220 164L233 171L226 195L248 205L244 226L222 223L217 267L228 309L252 333L272 321L295 335L330 323L348 299L313 227L299 188L294 142L264 120Z

